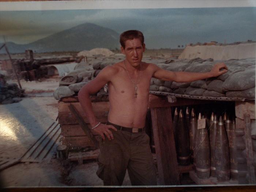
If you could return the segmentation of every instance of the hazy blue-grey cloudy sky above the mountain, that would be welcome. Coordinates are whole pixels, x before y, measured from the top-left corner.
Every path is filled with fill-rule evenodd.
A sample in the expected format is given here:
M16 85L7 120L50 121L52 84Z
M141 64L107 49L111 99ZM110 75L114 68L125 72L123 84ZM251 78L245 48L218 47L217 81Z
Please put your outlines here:
M256 41L256 7L1 11L0 42L27 44L83 24L143 32L146 48Z

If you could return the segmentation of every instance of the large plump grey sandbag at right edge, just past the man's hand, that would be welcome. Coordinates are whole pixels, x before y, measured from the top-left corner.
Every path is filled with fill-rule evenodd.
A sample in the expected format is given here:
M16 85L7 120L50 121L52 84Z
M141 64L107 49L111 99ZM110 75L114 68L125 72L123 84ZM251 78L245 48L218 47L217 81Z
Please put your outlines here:
M228 91L243 91L255 87L255 71L245 70L231 75L223 83Z

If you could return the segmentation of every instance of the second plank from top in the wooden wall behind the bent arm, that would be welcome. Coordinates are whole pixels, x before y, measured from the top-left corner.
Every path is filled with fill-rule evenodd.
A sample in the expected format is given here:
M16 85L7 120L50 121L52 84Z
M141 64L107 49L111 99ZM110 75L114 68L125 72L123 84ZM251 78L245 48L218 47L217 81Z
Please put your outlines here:
M83 118L85 123L90 123L87 117L84 113L79 113L80 116ZM106 123L108 121L108 112L95 112L95 116L97 117L97 120L101 123ZM59 124L78 124L78 121L76 120L75 116L70 112L59 112L58 113L58 121Z

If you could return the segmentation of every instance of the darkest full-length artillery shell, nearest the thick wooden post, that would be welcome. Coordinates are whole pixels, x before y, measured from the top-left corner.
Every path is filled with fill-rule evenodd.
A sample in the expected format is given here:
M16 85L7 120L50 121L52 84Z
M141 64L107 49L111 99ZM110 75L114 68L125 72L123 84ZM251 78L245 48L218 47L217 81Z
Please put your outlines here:
M188 129L185 126L185 119L180 109L180 115L178 120L178 129L177 129L177 139L178 139L178 163L180 165L189 165L189 136Z

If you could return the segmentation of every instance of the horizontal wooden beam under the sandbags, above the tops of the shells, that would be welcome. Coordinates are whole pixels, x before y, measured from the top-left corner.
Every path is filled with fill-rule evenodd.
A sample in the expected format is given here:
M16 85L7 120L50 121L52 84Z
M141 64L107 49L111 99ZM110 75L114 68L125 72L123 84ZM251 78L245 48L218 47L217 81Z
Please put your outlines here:
M170 103L166 96L157 96L150 94L148 99L148 108L160 108L160 107L170 107L170 106L183 106L183 105L197 105L197 104L206 104L206 103L221 103L222 101L207 101L199 99L186 99L186 98L177 98L177 102Z

